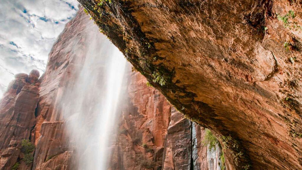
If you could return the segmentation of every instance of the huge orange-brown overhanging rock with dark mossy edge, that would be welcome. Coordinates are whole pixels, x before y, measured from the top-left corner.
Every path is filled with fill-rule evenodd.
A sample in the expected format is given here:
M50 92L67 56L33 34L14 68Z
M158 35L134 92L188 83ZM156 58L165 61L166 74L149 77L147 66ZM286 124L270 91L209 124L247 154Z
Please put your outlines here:
M302 169L301 1L78 1L229 169Z

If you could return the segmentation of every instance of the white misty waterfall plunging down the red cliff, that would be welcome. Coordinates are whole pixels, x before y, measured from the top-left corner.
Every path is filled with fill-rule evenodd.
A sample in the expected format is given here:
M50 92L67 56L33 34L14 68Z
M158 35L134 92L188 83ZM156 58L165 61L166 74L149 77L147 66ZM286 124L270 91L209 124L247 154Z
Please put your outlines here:
M80 170L107 169L111 154L109 141L116 127L126 65L117 47L94 29L85 35L86 54L80 56L85 58L84 64L75 64L79 69L75 83L69 84L62 101L70 145L76 152Z

